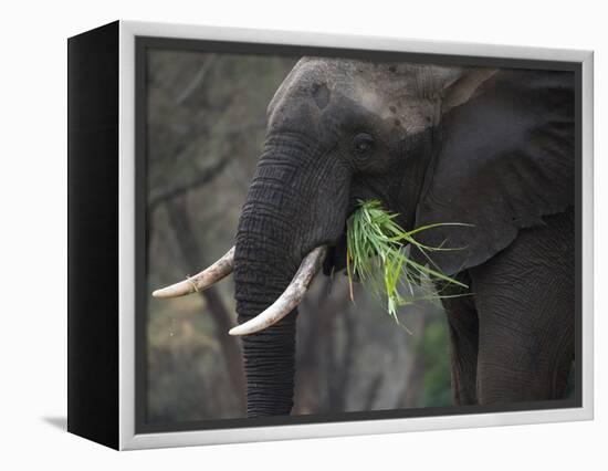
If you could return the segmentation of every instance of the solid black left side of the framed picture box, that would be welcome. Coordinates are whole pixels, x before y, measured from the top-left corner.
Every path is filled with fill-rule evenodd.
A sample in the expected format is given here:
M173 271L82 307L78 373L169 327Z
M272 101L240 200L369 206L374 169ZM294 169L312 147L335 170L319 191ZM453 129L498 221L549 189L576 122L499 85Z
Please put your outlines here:
M67 431L117 449L119 22L67 40Z

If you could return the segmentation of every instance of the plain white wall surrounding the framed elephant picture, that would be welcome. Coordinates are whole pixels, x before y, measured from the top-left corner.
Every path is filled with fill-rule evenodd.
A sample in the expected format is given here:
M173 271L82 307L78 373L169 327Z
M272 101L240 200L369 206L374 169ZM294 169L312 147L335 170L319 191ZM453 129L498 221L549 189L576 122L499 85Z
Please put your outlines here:
M115 19L361 33L596 51L596 241L606 236L608 53L600 1L25 1L2 3L0 53L0 467L293 470L598 469L606 459L607 250L596 244L596 420L116 453L70 436L66 355L65 39ZM10 289L9 289L10 286ZM589 460L595 460L593 465ZM10 467L6 461L13 461ZM220 468L221 467L221 468Z

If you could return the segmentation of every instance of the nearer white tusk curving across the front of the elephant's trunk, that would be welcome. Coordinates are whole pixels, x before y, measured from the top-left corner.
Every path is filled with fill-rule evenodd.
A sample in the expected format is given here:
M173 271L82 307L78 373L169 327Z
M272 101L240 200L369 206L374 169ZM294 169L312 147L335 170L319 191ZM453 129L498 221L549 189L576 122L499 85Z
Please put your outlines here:
M301 303L302 299L306 294L306 290L308 289L308 285L315 274L317 274L321 269L326 254L327 247L325 245L317 247L308 253L300 264L300 269L287 289L283 292L283 294L281 294L274 304L244 324L231 328L229 334L254 334L255 332L263 331L264 328L276 324L289 313L291 313Z

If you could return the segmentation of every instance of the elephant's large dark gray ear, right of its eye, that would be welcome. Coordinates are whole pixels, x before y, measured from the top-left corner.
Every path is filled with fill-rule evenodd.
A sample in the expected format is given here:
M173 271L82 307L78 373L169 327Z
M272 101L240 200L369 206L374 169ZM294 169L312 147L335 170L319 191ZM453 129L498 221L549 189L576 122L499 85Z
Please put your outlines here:
M574 202L574 74L465 72L442 100L438 142L416 213L418 239L445 274L475 266L517 231ZM428 262L422 253L413 255Z

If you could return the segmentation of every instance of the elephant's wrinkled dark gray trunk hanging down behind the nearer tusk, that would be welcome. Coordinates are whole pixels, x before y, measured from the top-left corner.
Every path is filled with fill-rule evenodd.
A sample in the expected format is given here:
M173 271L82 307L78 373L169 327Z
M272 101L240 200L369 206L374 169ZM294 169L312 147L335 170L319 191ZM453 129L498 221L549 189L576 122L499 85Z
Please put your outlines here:
M249 189L237 232L234 284L239 324L283 295L303 259L323 242L311 233L318 178L312 143L269 139ZM314 174L314 175L313 175ZM318 227L317 227L318 230ZM297 308L242 337L248 416L287 415L293 406Z

